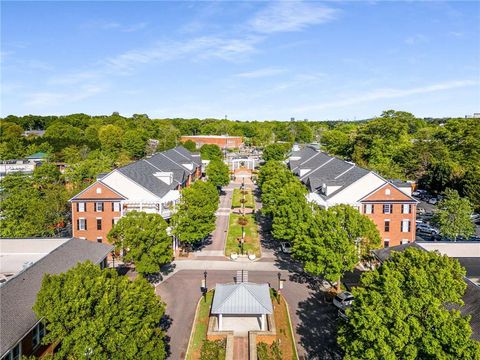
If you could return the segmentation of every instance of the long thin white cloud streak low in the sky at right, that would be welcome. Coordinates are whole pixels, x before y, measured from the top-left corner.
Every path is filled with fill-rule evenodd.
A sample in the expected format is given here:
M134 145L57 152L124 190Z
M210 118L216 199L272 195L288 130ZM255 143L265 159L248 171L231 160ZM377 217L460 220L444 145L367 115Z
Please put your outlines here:
M366 103L381 99L395 99L401 97L407 97L412 95L428 94L437 91L445 91L457 88L463 88L468 86L478 85L477 81L474 80L457 80L457 81L446 81L443 83L421 86L411 89L378 89L366 94L352 97L344 97L343 99L324 102L316 105L307 105L298 107L295 109L297 112L306 112L314 110L324 110L329 108L340 108L344 106L350 106L360 103Z

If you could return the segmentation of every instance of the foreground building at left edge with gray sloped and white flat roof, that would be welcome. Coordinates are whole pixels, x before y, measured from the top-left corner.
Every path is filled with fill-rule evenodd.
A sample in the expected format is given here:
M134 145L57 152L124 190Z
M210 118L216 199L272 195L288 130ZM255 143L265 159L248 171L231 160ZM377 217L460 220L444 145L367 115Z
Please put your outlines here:
M59 274L79 262L104 268L113 246L75 238L0 239L0 358L52 354L43 345L45 325L32 310L45 274Z

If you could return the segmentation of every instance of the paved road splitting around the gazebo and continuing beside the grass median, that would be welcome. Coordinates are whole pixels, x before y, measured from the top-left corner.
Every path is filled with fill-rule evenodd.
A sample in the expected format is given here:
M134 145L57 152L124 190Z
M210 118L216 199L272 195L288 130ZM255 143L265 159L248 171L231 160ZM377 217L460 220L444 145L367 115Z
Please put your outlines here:
M228 211L231 208L233 188L240 184L230 184L220 199L217 211L217 229L212 241L195 259L179 260L173 271L157 285L156 293L167 304L166 315L170 326L170 359L184 359L188 346L193 318L198 300L203 272L207 270L207 285L212 288L217 283L234 281L237 270L248 270L249 281L269 283L278 287L278 273L287 279L282 290L289 305L292 326L301 359L340 359L336 345L336 310L331 303L324 301L323 293L312 291L306 279L288 256L277 254L276 245L269 237L268 224L263 223L260 231L262 259L260 261L230 261L223 257L223 248L228 230ZM256 188L249 185L249 187ZM257 208L261 207L256 199ZM228 211L227 211L228 210ZM224 214L225 213L225 214Z

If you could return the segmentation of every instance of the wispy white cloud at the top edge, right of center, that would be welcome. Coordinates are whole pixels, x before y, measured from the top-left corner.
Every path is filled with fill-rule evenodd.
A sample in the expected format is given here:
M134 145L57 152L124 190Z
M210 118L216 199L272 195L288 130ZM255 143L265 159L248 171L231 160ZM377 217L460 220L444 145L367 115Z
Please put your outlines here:
M301 1L270 3L249 22L253 31L269 34L298 31L337 17L338 10Z

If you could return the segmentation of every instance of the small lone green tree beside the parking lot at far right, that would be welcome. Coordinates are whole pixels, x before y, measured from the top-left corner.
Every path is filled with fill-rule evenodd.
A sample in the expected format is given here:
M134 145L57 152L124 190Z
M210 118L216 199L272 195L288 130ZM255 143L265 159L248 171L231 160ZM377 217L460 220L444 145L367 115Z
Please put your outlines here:
M469 237L475 232L470 215L472 205L467 198L462 198L456 190L445 190L445 198L438 203L434 221L438 225L440 234L456 239L457 236Z

